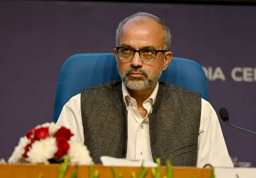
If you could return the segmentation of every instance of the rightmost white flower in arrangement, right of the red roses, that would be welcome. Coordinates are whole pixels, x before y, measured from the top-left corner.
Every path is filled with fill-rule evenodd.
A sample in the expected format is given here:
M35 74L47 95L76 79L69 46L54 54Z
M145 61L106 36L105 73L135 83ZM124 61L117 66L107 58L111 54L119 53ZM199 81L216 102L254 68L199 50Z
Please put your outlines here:
M93 160L90 157L90 152L83 144L79 144L75 141L69 141L70 149L68 156L70 158L71 165L90 165L93 164Z

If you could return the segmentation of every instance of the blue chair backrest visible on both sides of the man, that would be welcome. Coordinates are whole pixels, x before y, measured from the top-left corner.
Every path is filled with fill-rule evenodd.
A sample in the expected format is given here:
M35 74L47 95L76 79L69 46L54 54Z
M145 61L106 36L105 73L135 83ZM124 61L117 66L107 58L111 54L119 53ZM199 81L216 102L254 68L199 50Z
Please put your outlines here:
M69 57L59 75L53 121L56 122L65 103L80 89L119 80L112 53L76 54ZM208 100L207 77L202 67L188 59L173 57L160 81L201 93Z

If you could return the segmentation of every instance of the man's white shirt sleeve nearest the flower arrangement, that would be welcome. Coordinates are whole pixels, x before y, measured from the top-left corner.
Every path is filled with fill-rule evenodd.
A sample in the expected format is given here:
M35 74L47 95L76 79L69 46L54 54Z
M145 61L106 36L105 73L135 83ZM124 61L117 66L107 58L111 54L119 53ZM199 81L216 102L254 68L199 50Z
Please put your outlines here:
M81 95L72 97L63 107L56 124L67 127L74 134L73 140L84 144L84 129L81 117Z

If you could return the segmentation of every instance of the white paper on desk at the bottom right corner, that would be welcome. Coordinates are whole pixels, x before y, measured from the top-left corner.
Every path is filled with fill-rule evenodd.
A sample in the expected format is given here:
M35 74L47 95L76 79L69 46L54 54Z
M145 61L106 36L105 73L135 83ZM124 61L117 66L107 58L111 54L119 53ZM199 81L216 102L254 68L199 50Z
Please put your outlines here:
M256 168L214 168L215 178L256 178Z

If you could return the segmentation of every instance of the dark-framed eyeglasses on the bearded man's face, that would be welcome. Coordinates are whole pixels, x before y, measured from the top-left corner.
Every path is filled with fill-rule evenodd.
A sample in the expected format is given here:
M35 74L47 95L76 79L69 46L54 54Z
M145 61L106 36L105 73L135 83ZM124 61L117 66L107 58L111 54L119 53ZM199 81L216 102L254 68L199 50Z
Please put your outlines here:
M153 61L157 57L159 52L168 52L166 50L154 50L154 49L140 49L135 50L126 47L116 47L118 57L122 60L131 60L134 57L135 52L138 52L140 59L143 61Z

